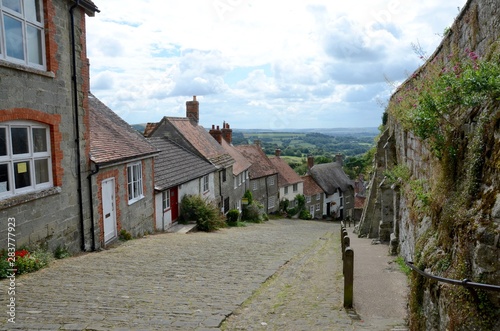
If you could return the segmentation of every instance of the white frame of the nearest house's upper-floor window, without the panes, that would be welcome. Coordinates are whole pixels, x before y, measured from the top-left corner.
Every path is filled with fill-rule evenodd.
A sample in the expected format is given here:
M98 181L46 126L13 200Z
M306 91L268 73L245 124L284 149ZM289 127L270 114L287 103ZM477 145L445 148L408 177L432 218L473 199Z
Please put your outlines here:
M45 50L45 28L44 28L45 22L43 17L43 1L34 0L33 2L31 2L31 1L19 0L19 2L21 6L19 8L19 11L17 11L8 8L7 6L2 4L2 1L0 1L0 59L12 63L26 65L40 70L46 70L47 64L46 64L46 50ZM30 8L29 7L30 3L35 4L35 8ZM36 4L38 4L38 8L36 8ZM35 15L35 18L32 19L28 17L29 13L33 13ZM14 56L9 56L7 54L8 38L5 31L6 20L15 20L21 25L20 32L22 34L22 42L23 42L22 45L23 59L19 59ZM38 44L36 45L36 48L38 48L38 51L40 52L39 56L41 63L32 62L30 60L29 48L30 45L32 44L30 43L30 41L33 41L33 39L30 38L29 31L38 32L38 38L36 38L36 40L34 41L36 41Z

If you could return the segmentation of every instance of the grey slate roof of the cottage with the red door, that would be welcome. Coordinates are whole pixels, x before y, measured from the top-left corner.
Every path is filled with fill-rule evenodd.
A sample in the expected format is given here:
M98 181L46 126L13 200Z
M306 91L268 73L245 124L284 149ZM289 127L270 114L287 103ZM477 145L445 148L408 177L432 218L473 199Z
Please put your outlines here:
M155 157L155 188L168 188L200 178L217 168L166 137L149 138L160 153Z

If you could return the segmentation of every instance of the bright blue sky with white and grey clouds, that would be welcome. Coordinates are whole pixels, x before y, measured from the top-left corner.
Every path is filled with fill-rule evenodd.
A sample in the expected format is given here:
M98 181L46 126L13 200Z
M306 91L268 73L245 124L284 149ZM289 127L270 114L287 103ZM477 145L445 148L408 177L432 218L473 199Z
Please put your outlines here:
M130 124L377 127L466 0L94 0L91 90Z

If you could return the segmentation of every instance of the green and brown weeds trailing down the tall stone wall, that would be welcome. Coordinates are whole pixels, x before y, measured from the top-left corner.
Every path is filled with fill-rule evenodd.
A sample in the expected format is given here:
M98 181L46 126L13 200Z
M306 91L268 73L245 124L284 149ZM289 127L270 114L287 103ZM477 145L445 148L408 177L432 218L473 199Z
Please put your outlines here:
M492 137L500 122L499 108L499 55L481 60L470 50L436 57L391 99L388 113L419 137L434 157L432 174L408 175L404 165L386 174L393 181L400 179L402 193L413 202L411 217L430 220L429 230L418 238L415 248L414 262L420 269L454 279L473 277L478 226L493 227L487 211L500 193L494 183L489 183L489 191L484 188L490 180L485 169L495 168L487 163L498 162ZM486 294L472 297L465 289L431 284L420 276L412 279L411 287L410 319L417 328L424 327L424 291L434 302L440 296L446 298L453 320L450 330L463 329L468 323L488 329L499 317Z

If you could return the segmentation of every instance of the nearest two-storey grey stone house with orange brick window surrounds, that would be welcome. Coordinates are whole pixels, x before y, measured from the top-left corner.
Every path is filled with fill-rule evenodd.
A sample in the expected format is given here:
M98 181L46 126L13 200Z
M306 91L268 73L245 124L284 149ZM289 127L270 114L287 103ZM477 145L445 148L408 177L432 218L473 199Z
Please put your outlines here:
M91 249L85 15L96 12L89 0L0 2L0 219L17 246ZM4 226L0 248L7 237Z

